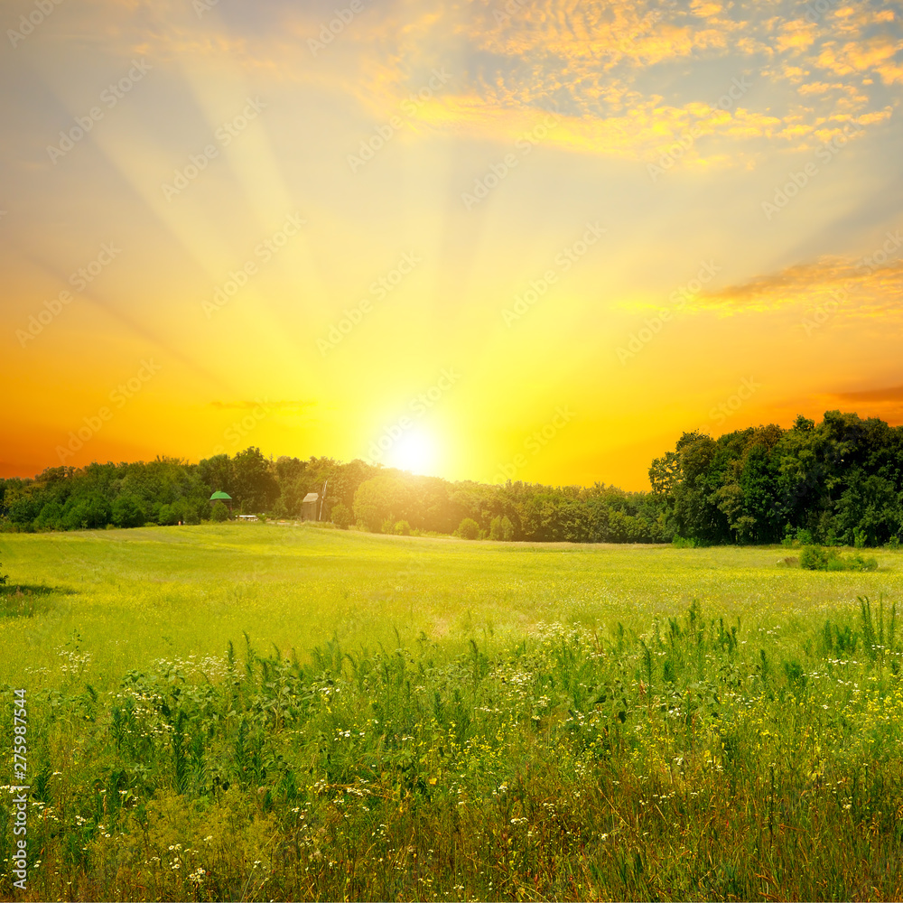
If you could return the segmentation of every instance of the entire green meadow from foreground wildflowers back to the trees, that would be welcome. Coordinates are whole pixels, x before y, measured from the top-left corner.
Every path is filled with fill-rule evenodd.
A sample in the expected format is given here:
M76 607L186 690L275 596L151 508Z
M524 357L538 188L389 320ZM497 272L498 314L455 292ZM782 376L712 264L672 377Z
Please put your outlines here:
M4 535L0 895L899 898L903 554L786 554Z

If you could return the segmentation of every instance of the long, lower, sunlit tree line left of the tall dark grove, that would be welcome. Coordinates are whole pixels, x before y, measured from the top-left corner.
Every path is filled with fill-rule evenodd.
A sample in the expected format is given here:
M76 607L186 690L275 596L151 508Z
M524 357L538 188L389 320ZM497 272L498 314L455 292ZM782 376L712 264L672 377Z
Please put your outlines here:
M324 492L325 489L325 492ZM232 497L233 514L302 514L309 492L319 519L382 533L566 542L665 542L649 493L595 484L490 486L418 477L364 461L267 459L250 447L192 464L173 458L54 467L34 479L0 479L0 530L78 530L200 524L210 496Z

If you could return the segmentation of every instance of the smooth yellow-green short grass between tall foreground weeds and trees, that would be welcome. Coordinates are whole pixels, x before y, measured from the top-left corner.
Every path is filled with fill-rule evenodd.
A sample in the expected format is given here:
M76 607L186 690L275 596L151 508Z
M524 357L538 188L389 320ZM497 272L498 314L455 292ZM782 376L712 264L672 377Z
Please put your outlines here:
M519 637L536 622L642 632L654 616L740 615L746 628L794 628L800 617L849 606L859 594L896 599L903 560L880 552L879 573L775 566L778 549L531 545L402 538L271 525L157 527L7 535L0 560L16 584L53 588L42 617L0 619L0 662L14 684L23 665L52 667L78 630L95 677L149 658L219 655L247 631L258 647L304 651L337 635L344 647L405 643L421 631L460 651L491 630Z

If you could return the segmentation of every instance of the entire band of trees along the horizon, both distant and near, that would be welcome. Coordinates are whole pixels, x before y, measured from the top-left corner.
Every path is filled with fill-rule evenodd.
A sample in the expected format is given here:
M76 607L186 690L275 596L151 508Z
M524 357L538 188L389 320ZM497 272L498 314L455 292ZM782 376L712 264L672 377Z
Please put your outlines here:
M234 512L294 518L309 492L319 519L382 533L502 541L822 545L898 543L903 428L829 411L789 430L717 439L684 433L649 468L651 491L419 477L365 461L267 459L256 447L197 464L173 458L55 467L0 479L0 530L199 524L225 491ZM325 492L324 492L325 489Z

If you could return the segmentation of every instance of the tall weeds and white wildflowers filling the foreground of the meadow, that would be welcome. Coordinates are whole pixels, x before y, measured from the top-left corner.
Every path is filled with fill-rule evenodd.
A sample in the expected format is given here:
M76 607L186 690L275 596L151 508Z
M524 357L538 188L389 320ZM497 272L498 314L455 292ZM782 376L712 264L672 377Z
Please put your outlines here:
M863 649L869 611L840 632ZM31 896L898 898L888 632L797 660L694 605L444 658L246 637L108 700L73 653L32 701Z

